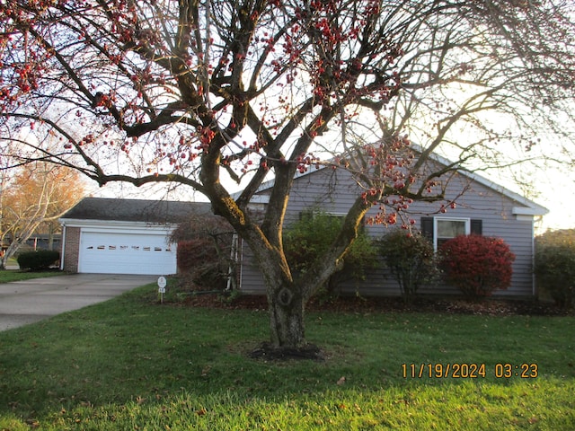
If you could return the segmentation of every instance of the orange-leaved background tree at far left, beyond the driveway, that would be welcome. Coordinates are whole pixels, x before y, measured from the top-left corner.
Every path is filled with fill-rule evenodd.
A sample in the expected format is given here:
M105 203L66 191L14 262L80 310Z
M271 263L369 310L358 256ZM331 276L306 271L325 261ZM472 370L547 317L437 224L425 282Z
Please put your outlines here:
M35 162L14 169L2 194L0 232L7 248L1 268L41 226L49 229L41 233L54 233L53 223L85 194L81 174L70 168Z

